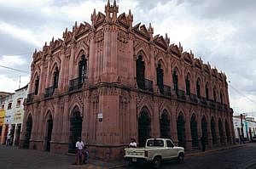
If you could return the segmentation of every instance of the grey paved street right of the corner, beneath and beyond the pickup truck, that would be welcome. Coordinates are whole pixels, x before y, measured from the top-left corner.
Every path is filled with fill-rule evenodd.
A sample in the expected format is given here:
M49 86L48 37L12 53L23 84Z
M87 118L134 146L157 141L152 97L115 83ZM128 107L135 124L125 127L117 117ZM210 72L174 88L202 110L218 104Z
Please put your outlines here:
M129 166L126 169L148 168L145 165ZM161 169L255 169L256 168L256 144L212 152L207 155L185 157L183 164L176 161L166 162Z

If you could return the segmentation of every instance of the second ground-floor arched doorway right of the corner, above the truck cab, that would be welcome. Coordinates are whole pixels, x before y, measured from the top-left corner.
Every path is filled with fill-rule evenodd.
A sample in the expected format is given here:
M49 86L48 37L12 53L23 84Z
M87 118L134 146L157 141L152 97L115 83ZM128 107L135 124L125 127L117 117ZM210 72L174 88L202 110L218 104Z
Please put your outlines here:
M163 111L160 118L160 138L171 138L170 118L166 110Z

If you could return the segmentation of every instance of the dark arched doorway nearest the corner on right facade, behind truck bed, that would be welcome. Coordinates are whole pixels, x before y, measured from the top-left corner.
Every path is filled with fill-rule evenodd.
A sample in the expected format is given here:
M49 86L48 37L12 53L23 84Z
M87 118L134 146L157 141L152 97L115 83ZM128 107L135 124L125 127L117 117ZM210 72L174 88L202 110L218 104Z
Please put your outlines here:
M151 120L148 110L143 109L138 118L138 144L140 147L145 146L148 138L151 138Z

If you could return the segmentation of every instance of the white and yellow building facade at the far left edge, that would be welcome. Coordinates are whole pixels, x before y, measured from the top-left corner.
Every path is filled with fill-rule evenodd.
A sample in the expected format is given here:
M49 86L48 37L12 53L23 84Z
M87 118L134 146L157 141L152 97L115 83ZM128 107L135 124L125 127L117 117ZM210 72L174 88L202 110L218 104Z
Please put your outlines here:
M11 135L11 145L20 144L20 132L24 116L24 100L27 96L28 85L15 90L5 96L1 103L0 120L3 120L1 128L1 144L6 144L8 134ZM1 122L1 121L0 121ZM0 123L1 124L1 123Z

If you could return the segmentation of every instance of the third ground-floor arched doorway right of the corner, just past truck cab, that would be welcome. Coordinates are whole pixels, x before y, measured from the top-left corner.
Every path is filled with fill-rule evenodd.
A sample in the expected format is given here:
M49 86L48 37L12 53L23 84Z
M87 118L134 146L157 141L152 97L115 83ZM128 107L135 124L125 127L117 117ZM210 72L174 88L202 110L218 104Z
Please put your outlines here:
M182 112L177 116L177 140L179 146L186 147L185 121Z

